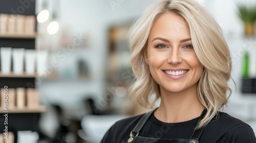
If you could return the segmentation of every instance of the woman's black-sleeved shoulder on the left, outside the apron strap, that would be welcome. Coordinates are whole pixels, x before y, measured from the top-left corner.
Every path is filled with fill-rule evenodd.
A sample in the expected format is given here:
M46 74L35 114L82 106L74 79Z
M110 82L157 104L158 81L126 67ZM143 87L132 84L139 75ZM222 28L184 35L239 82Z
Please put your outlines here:
M130 133L141 117L145 115L138 115L135 117L125 118L117 121L109 130L105 133L101 140L101 143L107 142L122 142L124 139L130 137Z

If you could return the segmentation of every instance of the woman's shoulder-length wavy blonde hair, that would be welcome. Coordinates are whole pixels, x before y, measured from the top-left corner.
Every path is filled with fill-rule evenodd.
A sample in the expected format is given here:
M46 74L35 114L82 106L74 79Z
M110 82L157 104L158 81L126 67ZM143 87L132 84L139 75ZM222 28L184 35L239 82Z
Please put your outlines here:
M159 85L145 63L143 51L147 47L147 39L153 23L159 16L169 12L178 14L186 20L195 53L204 67L198 83L198 96L207 108L207 114L197 126L200 128L218 115L218 111L226 105L231 94L227 83L231 78L231 56L219 24L197 2L191 0L157 2L148 7L133 24L129 32L129 43L135 82L130 87L130 96L146 108L153 108L156 100L160 98Z

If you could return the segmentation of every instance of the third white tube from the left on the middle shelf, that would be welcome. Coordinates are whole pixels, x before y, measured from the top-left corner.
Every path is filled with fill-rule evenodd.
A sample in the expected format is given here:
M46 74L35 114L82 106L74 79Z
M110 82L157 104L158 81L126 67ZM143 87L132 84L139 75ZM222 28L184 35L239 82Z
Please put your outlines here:
M25 52L25 71L26 74L32 75L35 74L35 49L26 49Z

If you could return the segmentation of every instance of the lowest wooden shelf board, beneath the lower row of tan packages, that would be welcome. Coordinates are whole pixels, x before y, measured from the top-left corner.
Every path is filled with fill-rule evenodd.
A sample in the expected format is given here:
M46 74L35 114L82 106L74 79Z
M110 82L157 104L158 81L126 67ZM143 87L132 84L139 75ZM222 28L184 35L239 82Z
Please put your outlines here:
M46 111L46 106L39 106L37 108L9 108L6 112L6 110L4 110L4 107L0 107L0 113L33 113L33 112L45 112Z

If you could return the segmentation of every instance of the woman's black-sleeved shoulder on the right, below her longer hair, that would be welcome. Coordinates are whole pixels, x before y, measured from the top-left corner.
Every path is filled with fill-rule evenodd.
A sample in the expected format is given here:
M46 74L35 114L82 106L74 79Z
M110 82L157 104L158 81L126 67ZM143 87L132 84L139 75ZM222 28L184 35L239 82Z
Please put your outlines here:
M256 142L252 128L245 122L219 112L202 133L202 138L212 137L212 142ZM207 141L206 141L207 142Z

